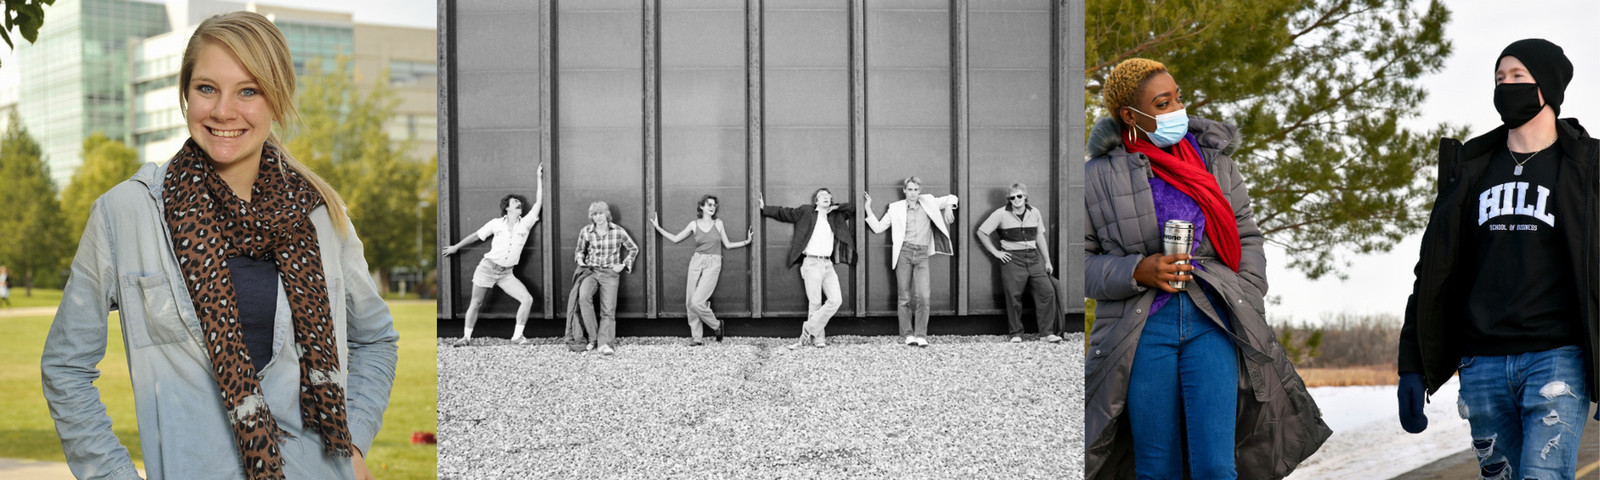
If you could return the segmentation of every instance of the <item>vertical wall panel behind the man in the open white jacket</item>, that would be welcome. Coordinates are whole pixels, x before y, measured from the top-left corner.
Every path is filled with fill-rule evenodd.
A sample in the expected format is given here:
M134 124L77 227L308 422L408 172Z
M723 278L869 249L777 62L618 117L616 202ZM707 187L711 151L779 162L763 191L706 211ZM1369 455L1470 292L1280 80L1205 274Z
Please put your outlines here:
M922 178L926 194L954 192L950 173L950 5L947 2L869 0L867 5L867 190L883 214L901 200L899 181ZM859 197L859 192L853 192ZM862 224L866 229L866 226ZM870 229L869 229L870 230ZM955 232L957 235L960 232ZM899 293L890 230L869 234L861 269L867 272L867 314L894 315ZM955 312L950 256L928 262L930 309Z

